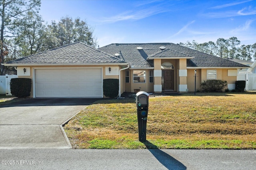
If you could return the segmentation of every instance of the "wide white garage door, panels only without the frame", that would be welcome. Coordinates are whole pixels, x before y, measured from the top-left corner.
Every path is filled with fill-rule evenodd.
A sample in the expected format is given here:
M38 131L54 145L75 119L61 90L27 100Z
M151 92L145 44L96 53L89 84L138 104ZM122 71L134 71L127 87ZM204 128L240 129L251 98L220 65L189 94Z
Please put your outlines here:
M101 68L35 69L35 97L102 97Z

